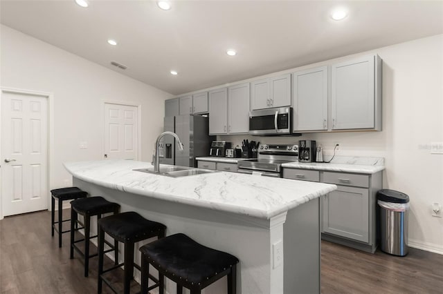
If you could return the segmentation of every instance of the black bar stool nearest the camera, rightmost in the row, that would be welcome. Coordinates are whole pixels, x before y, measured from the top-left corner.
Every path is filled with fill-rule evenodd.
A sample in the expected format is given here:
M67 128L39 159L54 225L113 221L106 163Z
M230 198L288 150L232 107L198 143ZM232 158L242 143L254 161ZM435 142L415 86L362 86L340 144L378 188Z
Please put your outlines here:
M177 294L183 287L191 294L201 293L213 282L228 276L228 294L237 289L237 257L203 246L184 234L175 234L141 246L141 294L147 294L149 265L159 271L159 293L165 293L164 277L177 283Z

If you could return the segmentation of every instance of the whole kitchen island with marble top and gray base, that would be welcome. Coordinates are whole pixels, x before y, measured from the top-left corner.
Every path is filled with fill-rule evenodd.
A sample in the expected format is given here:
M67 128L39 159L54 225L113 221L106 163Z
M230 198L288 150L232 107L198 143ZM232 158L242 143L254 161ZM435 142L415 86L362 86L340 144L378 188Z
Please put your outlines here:
M65 164L73 185L91 196L165 224L167 235L185 233L238 257L237 293L320 293L318 198L335 185L224 172L172 178L134 170L151 166L128 160ZM166 289L175 291L170 282ZM226 280L205 290L226 293Z

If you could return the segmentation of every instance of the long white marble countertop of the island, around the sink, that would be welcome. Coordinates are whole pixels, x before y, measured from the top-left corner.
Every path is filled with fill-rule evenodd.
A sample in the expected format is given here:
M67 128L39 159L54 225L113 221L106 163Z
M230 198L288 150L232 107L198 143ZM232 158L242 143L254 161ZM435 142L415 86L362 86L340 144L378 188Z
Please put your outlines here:
M132 160L82 161L64 166L74 177L107 188L264 219L337 188L332 184L240 173L165 177L134 171L152 165Z

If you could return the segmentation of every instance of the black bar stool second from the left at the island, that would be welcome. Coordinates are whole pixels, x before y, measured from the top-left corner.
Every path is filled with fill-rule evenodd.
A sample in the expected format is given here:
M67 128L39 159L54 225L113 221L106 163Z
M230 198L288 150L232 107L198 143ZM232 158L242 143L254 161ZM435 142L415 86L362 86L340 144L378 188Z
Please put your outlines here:
M89 273L89 258L95 257L98 253L89 255L89 240L91 238L98 237L98 235L90 236L91 232L91 217L97 215L97 219L102 218L102 214L104 213L114 213L117 214L118 210L120 210L120 205L114 202L109 202L105 198L96 196L96 197L87 197L82 199L77 199L71 202L71 255L70 258L74 258L74 249L82 257L84 257L84 276L87 277ZM82 215L84 217L84 224L82 224L78 220L78 215ZM75 240L75 224L80 224L78 230L84 228L84 238ZM78 248L75 243L84 241L84 253ZM114 251L116 264L118 263L118 242L115 240L114 245L110 244L105 240L105 243L108 244L111 249L105 251L105 253Z

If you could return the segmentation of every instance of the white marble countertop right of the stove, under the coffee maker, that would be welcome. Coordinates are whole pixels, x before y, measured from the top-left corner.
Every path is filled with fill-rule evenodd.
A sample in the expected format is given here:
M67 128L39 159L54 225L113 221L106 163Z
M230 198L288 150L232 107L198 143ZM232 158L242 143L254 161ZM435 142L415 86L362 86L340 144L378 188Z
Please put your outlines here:
M381 157L337 157L329 164L320 162L303 163L289 162L282 164L283 168L303 168L307 170L327 170L343 173L373 174L385 169Z

